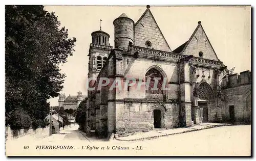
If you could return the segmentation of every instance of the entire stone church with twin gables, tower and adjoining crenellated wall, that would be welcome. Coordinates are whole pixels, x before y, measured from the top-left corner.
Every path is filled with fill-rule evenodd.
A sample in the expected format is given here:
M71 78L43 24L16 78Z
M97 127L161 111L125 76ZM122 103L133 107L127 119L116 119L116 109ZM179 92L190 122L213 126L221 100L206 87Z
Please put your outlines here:
M201 21L184 44L171 50L147 6L135 23L125 13L113 21L114 47L110 35L92 33L89 49L90 87L86 132L108 136L153 128L192 126L200 122L250 119L251 73L230 75L218 59ZM98 90L100 78L135 84ZM151 90L157 87L168 90ZM150 79L150 87L140 86ZM165 81L164 81L165 80ZM241 90L242 89L242 90ZM242 92L242 93L240 93ZM230 110L231 109L231 110Z

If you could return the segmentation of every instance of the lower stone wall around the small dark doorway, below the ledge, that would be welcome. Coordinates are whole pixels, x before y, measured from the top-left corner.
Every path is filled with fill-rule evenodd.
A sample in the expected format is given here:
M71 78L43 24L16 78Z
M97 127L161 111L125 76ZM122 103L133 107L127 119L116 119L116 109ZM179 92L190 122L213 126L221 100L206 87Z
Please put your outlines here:
M158 102L125 101L119 103L116 108L117 134L152 130L154 128L154 110L161 111L161 128L177 127L179 122L177 104L164 103L164 106Z

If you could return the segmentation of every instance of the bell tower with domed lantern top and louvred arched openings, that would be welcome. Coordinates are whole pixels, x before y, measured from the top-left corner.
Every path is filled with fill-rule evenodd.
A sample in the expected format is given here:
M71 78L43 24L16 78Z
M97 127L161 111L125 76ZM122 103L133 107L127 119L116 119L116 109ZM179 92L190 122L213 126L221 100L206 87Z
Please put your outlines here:
M100 20L101 21L101 20ZM95 80L105 65L112 49L109 43L110 35L101 30L92 33L92 43L89 49L89 73L88 78Z

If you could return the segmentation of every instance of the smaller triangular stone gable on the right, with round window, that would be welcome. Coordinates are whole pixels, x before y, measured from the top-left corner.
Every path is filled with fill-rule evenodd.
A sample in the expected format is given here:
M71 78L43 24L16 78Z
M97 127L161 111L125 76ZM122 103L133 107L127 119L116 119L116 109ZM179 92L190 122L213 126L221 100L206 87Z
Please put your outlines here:
M199 54L199 52L202 53L202 57L200 57L201 53ZM181 53L184 55L193 55L194 57L220 61L205 34L201 22L199 22L196 30L186 43Z

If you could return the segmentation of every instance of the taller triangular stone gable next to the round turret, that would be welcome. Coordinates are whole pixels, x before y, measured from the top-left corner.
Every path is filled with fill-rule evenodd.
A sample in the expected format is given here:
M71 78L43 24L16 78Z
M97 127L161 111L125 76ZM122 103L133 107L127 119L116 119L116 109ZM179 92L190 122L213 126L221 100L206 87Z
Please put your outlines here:
M134 45L147 47L146 41L151 42L150 48L164 51L172 51L166 42L162 32L157 25L150 9L146 9L144 14L134 25Z

